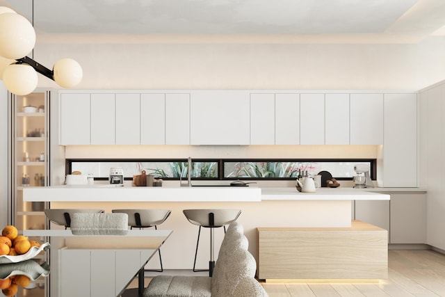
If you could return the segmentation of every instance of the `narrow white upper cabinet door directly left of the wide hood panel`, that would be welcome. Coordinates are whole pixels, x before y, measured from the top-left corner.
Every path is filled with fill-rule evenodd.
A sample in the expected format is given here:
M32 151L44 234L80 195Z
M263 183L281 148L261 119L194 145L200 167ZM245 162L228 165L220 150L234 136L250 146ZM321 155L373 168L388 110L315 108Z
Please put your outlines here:
M165 94L165 144L190 144L190 94Z

